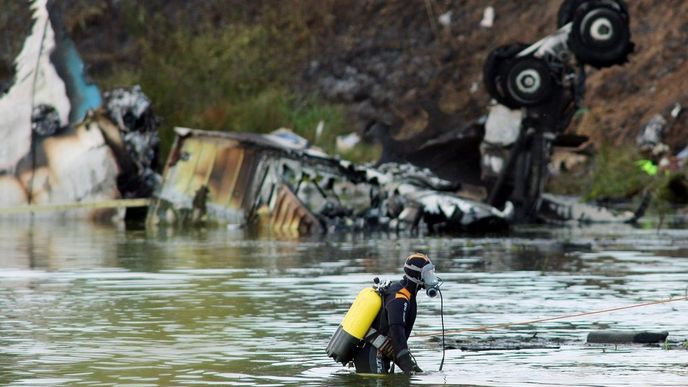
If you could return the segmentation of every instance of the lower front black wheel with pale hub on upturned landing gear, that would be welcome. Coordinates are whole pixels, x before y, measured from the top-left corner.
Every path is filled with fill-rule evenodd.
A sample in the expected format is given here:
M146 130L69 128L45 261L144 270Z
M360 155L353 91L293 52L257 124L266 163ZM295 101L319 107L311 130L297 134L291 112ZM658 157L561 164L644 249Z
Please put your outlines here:
M515 58L509 63L506 86L509 97L520 106L537 106L552 95L554 80L547 63L539 58Z

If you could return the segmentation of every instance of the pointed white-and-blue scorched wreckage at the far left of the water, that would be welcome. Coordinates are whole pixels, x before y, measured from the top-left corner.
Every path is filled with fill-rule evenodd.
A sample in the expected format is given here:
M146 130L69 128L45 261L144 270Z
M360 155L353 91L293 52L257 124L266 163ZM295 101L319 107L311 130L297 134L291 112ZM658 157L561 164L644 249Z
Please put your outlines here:
M150 197L158 184L151 102L138 87L101 96L54 3L31 8L15 82L0 98L0 211L111 218L119 199Z

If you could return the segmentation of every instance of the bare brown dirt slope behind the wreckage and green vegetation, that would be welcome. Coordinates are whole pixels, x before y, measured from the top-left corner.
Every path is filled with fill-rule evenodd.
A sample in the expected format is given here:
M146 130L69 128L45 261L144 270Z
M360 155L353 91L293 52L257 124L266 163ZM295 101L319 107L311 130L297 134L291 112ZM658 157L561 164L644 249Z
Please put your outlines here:
M0 28L9 32L7 40L21 30L10 15L19 15L17 8L25 4L0 2ZM585 98L590 110L569 128L598 143L631 143L652 115L666 114L676 102L688 107L688 2L628 3L636 53L623 67L590 71ZM383 121L395 139L412 148L483 115L489 98L481 69L488 52L507 42L534 42L554 31L560 1L206 0L190 6L171 0L146 2L143 8L126 0L59 4L96 81L118 67L138 65L137 50L146 35L131 28L132 20L162 16L180 28L210 23L222 29L259 22L279 8L285 20L274 28L298 19L308 31L294 37L308 54L293 87L346 105L352 130L363 131L371 119ZM491 28L479 26L486 6L495 9ZM21 13L23 18L26 14ZM448 23L440 22L442 15ZM0 85L7 84L7 62L19 49L15 46L3 46ZM672 127L670 145L685 146L686 134L688 114Z

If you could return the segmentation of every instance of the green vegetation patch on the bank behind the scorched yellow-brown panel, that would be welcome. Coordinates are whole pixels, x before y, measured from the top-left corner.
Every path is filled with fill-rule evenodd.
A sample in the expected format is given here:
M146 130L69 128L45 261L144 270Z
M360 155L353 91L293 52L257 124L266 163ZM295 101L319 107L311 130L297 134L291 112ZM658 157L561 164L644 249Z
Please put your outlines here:
M342 106L292 91L308 57L310 31L298 17L286 25L278 25L278 17L287 18L268 10L259 23L192 28L129 3L125 25L138 38L140 60L98 82L103 89L141 85L163 119L164 152L175 126L257 133L285 127L334 154L336 136L353 129ZM324 130L316 138L320 121ZM341 156L370 161L379 152L364 145Z

